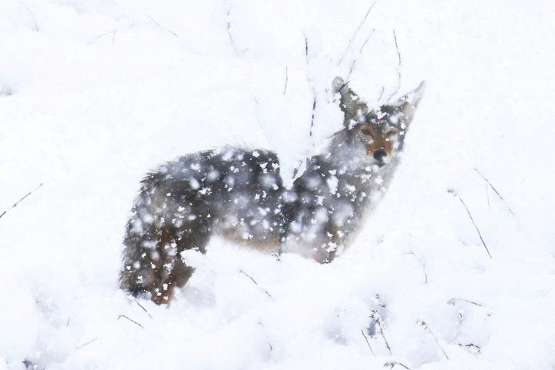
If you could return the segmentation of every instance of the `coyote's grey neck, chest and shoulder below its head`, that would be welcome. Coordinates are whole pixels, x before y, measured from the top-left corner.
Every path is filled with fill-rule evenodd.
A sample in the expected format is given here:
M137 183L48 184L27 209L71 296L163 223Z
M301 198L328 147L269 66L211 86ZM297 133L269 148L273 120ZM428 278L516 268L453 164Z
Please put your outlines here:
M325 154L307 163L285 193L285 249L328 262L347 245L379 198L397 164L381 169L347 129L334 135Z

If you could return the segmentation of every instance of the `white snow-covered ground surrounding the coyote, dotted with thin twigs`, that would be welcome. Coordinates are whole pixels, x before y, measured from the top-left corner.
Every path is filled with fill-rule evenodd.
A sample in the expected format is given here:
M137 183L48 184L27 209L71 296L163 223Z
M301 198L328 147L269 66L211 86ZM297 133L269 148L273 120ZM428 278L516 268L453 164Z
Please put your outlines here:
M43 184L0 218L0 369L555 369L554 4L0 0L0 213ZM237 144L287 181L335 75L428 83L341 258L214 239L171 307L118 290L148 169Z

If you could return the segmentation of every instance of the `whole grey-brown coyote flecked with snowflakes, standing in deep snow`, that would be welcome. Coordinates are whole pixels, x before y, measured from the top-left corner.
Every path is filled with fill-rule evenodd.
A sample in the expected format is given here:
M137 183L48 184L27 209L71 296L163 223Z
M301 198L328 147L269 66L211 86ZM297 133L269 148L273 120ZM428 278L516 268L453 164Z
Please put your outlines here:
M212 235L332 261L391 181L424 83L376 111L342 78L332 88L344 127L326 153L307 159L291 189L282 184L276 154L261 149L187 154L147 174L127 223L120 287L169 303L194 271L180 253L205 253Z

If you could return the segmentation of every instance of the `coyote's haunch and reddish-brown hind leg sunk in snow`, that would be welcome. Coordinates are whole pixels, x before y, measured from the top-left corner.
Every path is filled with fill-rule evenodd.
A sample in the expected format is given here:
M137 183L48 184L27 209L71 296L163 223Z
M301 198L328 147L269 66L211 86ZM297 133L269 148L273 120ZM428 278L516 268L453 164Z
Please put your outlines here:
M185 265L181 252L205 252L212 218L209 205L195 199L194 192L159 177L152 174L143 181L127 223L120 287L162 305L191 277L194 269Z

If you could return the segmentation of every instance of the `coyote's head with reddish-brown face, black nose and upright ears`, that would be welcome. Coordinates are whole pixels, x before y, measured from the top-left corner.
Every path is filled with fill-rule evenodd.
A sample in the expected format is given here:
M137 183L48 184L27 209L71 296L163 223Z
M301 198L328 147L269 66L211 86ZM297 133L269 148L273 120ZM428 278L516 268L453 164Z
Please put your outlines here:
M405 134L424 93L425 82L396 102L373 111L359 100L359 96L342 78L334 78L333 88L335 93L341 95L339 107L344 112L344 132L364 147L369 163L386 166L403 148Z

